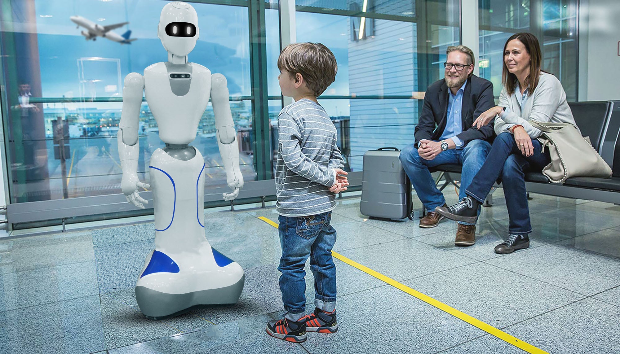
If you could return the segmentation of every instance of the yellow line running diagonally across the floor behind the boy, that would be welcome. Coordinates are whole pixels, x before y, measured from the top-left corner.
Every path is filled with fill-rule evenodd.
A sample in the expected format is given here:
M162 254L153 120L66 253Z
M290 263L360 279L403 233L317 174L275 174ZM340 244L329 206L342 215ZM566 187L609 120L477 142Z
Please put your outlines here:
M263 220L263 222L268 223L269 225L272 225L273 227L277 228L278 224L273 222L272 220L269 220L266 217L259 217L260 220ZM446 305L445 303L442 303L441 301L437 301L435 299L433 299L432 297L428 296L428 295L424 295L423 293L420 293L420 291L414 290L410 287L407 287L407 285L404 285L402 283L397 282L396 280L386 277L385 275L376 272L375 270L372 270L368 267L366 267L365 265L359 264L358 262L352 261L351 259L348 259L345 256L342 256L342 254L339 254L337 252L332 251L332 256L334 256L336 259L339 259L342 262L345 262L348 265L352 265L353 267L361 270L362 272L365 272L366 274L370 274L375 278L378 278L379 280L382 280L383 282L388 283L389 285L392 285L392 287L397 288L398 290L404 291L405 293L408 293L411 296L414 296L415 298L418 298L422 301L424 301L427 304L430 304L431 306L435 306L436 308L440 309L441 311L445 311L448 314L451 314L452 316L465 321L469 324L471 324L472 326L476 326L479 329L484 330L485 332L487 332L488 334L494 335L495 337L503 340L504 342L514 345L517 348L523 349L528 353L536 353L536 354L542 354L542 353L546 353L549 354L547 352L545 352L542 349L539 349L537 347L534 347L533 345L523 342L523 340L520 340L516 337L513 337L510 334L507 334L506 332L503 332L502 330L499 330L493 326L490 326L489 324L486 324L485 322L480 321L479 319L476 319L472 316L469 316L466 313L462 313L461 311L459 311L458 309L455 308L451 308L450 306Z

